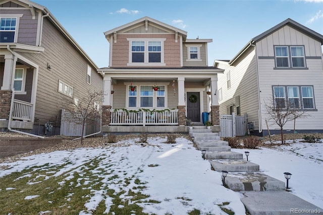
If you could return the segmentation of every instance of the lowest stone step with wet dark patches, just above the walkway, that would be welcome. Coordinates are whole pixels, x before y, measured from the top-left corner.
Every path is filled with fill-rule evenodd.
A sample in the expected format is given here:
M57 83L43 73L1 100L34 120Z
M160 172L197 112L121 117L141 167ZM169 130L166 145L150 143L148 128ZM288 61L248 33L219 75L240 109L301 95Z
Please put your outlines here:
M262 173L230 173L225 183L233 191L285 190L285 182Z

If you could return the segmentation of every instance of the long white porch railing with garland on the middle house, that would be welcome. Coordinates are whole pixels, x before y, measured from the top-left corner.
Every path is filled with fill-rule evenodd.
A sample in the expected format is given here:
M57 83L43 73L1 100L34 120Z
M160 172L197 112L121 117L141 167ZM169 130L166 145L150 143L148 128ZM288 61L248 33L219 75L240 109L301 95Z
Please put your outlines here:
M178 110L111 110L110 125L178 125Z

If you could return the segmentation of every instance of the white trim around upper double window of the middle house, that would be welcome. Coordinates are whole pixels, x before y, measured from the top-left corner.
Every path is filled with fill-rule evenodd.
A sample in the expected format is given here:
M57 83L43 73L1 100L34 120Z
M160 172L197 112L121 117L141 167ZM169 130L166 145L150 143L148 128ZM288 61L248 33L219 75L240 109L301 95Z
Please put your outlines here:
M127 38L129 41L129 63L127 66L166 66L164 61L164 42L166 38ZM131 51L131 42L143 41L145 42L145 51L144 51L144 63L132 63L132 51ZM148 42L158 41L161 42L161 54L160 54L160 63L149 63L148 61Z

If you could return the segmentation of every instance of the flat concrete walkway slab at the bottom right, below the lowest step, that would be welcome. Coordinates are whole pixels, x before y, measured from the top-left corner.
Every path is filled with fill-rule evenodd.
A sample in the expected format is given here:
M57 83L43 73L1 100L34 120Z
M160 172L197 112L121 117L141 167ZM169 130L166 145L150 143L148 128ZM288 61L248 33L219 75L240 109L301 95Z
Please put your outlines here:
M322 214L323 211L322 208L286 191L251 191L243 192L243 196L245 197L241 201L251 215Z

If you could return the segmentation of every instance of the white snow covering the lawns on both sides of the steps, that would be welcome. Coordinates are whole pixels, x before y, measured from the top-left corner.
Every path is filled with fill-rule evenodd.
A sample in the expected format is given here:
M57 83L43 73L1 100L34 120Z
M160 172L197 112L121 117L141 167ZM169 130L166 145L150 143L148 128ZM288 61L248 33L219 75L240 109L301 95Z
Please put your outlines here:
M50 175L44 180L64 175L66 178L60 182L63 185L73 178L74 173L78 173L80 178L75 186L91 190L90 196L87 196L89 200L84 204L87 210L82 210L79 214L91 214L102 200L107 207L105 212L111 210L113 198L107 196L106 187L100 190L91 188L99 181L108 189L115 190L115 194L126 191L120 198L129 203L137 203L144 208L143 212L149 214L186 214L194 209L200 210L201 214L226 214L218 206L223 202L230 202L226 207L235 211L235 214L245 214L245 207L240 201L241 194L222 186L221 173L210 169L209 162L202 159L201 152L193 147L192 142L185 138L177 138L176 144L165 144L166 138L148 138L149 144L141 146L136 141L127 141L131 144L127 147L117 146L120 145L117 143L108 144L106 147L78 148L24 157L17 162L0 164L9 166L7 170L0 172L0 177L32 166L41 167L46 163L52 167L67 163L58 171L48 172ZM244 153L245 149L232 151ZM323 208L323 143L300 143L298 140L298 143L290 146L248 151L249 161L259 164L261 172L284 182L286 180L283 173L290 172L291 193ZM86 168L82 168L82 165L92 159L99 162L98 166L91 170L91 173L98 177L98 181L89 183L89 179L83 177ZM100 173L101 170L104 170L104 174ZM116 178L111 178L113 176ZM130 184L125 186L125 180L131 176L135 176L144 184L136 184L134 180L129 180ZM137 186L146 187L140 191L150 196L145 200L157 200L160 203L131 202L132 197L128 192L138 192L138 189L133 190L133 187ZM38 197L34 195L37 193L27 194L30 195L25 199ZM73 193L70 193L66 199L72 196ZM65 205L68 206L69 201Z

